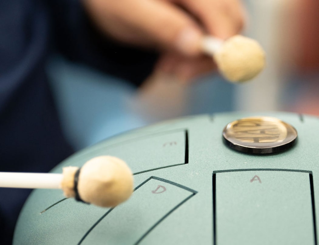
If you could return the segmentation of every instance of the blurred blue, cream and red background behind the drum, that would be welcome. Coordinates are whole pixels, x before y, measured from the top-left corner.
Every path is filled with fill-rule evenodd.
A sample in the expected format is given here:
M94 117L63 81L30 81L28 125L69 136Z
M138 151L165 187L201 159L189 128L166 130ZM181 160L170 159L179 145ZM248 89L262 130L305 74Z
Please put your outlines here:
M217 73L182 85L153 77L139 90L63 56L48 74L63 130L77 149L160 120L227 111L319 115L319 1L246 0L244 35L263 46L267 66L244 84ZM258 113L256 113L258 114Z

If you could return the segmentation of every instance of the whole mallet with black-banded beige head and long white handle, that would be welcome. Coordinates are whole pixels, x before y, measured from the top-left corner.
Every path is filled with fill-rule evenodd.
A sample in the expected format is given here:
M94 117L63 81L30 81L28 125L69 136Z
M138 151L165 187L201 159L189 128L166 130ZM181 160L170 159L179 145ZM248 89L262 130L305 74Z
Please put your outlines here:
M132 194L133 175L121 159L98 156L81 168L65 167L62 174L0 172L0 187L62 189L68 198L114 207Z

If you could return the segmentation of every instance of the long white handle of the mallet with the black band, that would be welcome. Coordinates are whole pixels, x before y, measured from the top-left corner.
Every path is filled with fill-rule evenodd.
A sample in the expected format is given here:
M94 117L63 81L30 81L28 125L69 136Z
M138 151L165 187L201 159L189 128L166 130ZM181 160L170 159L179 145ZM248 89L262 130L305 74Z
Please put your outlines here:
M0 187L60 189L62 174L0 172Z

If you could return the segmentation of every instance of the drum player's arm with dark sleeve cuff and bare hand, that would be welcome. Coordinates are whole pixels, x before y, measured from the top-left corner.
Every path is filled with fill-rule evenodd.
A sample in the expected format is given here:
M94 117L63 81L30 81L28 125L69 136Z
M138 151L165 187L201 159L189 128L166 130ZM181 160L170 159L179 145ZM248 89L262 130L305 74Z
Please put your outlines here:
M211 71L202 37L226 39L244 23L240 0L82 0L85 9L78 0L50 2L64 54L136 84L155 61L156 71L182 80Z

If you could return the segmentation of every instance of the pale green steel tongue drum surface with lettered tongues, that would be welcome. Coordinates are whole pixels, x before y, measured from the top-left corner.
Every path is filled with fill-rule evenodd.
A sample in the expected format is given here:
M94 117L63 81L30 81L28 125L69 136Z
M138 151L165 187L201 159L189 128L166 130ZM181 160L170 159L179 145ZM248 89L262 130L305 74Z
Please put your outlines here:
M220 113L140 128L72 155L52 172L115 155L134 173L132 197L107 209L35 190L13 244L316 245L319 119L258 115L292 125L298 142L275 154L235 151L223 142L224 127L256 113Z

